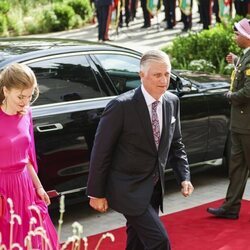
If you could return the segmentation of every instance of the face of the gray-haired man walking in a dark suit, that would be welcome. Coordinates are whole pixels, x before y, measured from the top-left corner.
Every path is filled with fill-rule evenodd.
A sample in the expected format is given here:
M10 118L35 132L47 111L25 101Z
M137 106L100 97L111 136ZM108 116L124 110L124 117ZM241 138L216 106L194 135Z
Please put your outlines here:
M169 87L170 66L164 62L148 62L141 70L140 77L147 92L158 100Z

